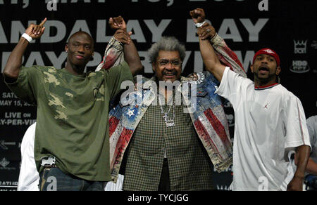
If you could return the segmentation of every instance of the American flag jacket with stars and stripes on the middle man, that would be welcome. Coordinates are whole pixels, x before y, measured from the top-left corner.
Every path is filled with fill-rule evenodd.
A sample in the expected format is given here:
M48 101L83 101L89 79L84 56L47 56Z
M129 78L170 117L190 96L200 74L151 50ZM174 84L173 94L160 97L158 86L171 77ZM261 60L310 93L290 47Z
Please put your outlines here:
M224 65L243 77L247 77L242 63L237 59L237 55L228 48L225 41L218 34L211 39L211 44ZM123 59L123 45L113 38L109 42L104 60L97 70L109 69L114 65L118 65ZM153 81L142 78L142 84L141 91L129 93L130 97L141 99L141 103L125 106L119 103L114 105L109 112L111 176L115 183L118 179L123 154L128 147L135 128L137 128L144 113L147 112L149 105L156 99L156 93L153 90L153 86L151 86ZM215 93L219 82L210 72L199 72L188 78L181 77L180 86L186 86L186 84L188 86L192 84L197 86L197 103L193 112L189 112L197 135L206 148L216 170L218 172L225 171L232 164L232 143L221 98ZM185 98L186 105L191 107L191 101L187 98L186 93L180 89L178 90Z

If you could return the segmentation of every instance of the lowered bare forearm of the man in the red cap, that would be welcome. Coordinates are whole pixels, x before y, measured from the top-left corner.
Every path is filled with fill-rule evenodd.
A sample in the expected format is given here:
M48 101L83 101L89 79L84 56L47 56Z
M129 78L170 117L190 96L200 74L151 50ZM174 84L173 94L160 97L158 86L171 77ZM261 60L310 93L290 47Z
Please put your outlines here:
M307 145L297 147L297 171L295 172L294 177L304 179L310 151L311 148Z

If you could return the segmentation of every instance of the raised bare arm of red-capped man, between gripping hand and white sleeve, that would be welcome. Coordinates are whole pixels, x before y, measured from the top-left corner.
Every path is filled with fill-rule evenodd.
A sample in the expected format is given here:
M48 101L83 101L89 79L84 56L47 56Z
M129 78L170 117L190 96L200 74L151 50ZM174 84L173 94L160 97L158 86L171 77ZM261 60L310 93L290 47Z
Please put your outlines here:
M221 65L218 60L218 56L216 55L213 46L209 40L201 40L199 39L199 47L201 52L201 57L206 65L206 70L211 72L218 81L221 81L223 78L223 72L225 70L225 66Z

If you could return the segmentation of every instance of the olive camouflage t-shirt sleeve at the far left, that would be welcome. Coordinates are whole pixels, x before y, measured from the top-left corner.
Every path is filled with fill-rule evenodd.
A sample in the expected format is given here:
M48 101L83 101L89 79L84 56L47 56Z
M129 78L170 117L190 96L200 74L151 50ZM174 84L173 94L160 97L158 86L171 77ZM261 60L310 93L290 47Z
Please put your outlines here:
M12 83L5 80L5 83L18 98L35 105L37 102L37 88L42 78L40 73L36 66L21 67L18 79Z

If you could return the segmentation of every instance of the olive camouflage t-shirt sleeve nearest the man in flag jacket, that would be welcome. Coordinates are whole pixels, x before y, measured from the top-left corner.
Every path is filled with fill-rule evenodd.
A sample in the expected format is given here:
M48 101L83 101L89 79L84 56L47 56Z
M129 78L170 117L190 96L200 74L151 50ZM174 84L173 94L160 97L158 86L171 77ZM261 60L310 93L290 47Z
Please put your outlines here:
M108 86L108 90L111 93L111 99L114 98L121 91L121 84L124 81L132 81L133 77L130 71L130 67L127 62L121 62L118 66L112 67L110 70L106 72L106 84ZM126 86L123 86L126 88Z

